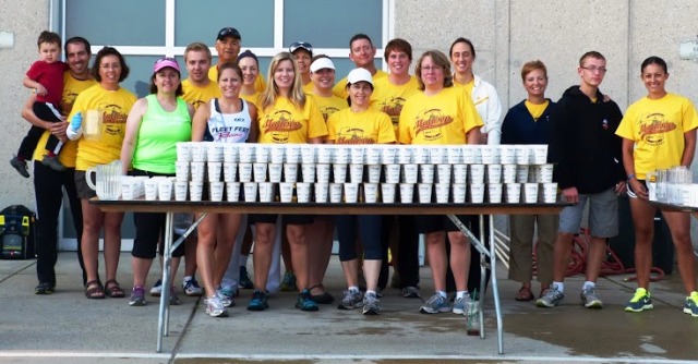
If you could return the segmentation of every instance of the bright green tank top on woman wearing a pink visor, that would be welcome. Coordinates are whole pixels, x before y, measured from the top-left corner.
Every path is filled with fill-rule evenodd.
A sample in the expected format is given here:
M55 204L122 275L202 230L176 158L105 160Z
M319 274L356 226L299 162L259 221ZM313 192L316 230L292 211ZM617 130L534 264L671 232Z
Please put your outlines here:
M192 139L192 119L186 102L177 97L177 109L165 111L155 95L145 97L148 110L143 116L133 151L133 168L174 174L177 142Z

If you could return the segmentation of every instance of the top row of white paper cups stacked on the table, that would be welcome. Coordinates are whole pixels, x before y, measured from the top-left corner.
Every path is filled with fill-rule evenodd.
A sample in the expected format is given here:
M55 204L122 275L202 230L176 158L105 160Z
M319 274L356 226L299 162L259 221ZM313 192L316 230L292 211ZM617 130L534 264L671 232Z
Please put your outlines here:
M547 145L341 145L181 142L178 161L342 165L544 165Z

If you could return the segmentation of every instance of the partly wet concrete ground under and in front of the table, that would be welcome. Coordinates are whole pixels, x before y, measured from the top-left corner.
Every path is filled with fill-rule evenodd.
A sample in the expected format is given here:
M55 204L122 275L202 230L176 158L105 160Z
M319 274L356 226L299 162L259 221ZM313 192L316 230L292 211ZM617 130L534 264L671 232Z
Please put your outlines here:
M130 254L121 256L119 281L131 287ZM675 270L652 286L655 308L623 311L635 290L628 276L599 281L605 307L577 304L582 278L565 286L567 304L552 310L516 302L518 283L500 266L504 350L497 354L494 306L485 303L486 338L466 335L464 316L418 313L420 300L387 289L380 316L321 305L293 307L294 293L279 293L270 308L248 312L243 290L228 318L212 318L196 298L172 306L170 336L156 353L156 299L131 307L128 299L87 300L75 253L61 253L52 295L35 295L35 260L0 260L0 363L696 363L698 318L682 313L684 292ZM154 269L148 278L157 280ZM432 292L422 268L422 294ZM341 269L333 257L325 286L339 299ZM177 282L181 281L178 276ZM537 290L537 289L535 289Z

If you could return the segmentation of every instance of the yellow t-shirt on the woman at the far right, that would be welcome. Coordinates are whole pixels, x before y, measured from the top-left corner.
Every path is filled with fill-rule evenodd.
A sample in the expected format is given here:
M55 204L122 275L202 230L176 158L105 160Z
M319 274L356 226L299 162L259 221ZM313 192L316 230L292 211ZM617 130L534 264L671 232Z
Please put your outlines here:
M661 99L643 97L630 105L615 133L635 142L635 174L643 180L648 172L681 165L684 133L696 128L698 116L690 100L666 94Z

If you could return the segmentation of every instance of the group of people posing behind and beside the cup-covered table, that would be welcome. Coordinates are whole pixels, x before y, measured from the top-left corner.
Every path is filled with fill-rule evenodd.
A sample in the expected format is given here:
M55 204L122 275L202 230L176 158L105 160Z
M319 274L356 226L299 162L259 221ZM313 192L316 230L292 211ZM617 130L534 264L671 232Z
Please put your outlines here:
M103 48L89 68L89 44L81 37L71 38L64 45L63 64L58 61L60 37L57 37L51 34L39 37L40 60L27 72L24 82L35 92L22 111L33 128L11 160L22 175L28 177L26 160L34 159L37 294L51 293L56 286L58 211L61 189L65 189L77 231L85 295L88 299L127 295L117 281L123 214L103 213L88 203L96 194L85 180L86 170L97 165L120 160L124 174L173 175L176 144L185 141L502 143L549 144L550 161L556 163L555 181L562 190L561 198L570 204L559 216L509 218L509 277L521 282L516 300L534 299L531 260L538 231L535 256L541 291L537 304L553 307L563 302L571 238L579 231L589 202L592 238L587 281L580 296L586 307L601 307L595 280L606 239L617 234L617 196L627 190L636 226L639 288L626 311L652 307L648 287L652 225L647 221L651 221L655 207L648 203L645 179L654 169L689 167L698 126L690 101L665 90L669 73L660 58L650 58L642 64L641 78L649 94L628 108L625 117L599 89L606 72L601 53L591 51L581 57L577 70L580 85L568 88L558 102L545 97L547 73L543 62L528 62L521 70L528 97L502 120L495 88L473 73L476 49L466 38L456 39L449 54L438 50L422 53L414 64L414 75L410 75L412 48L407 40L396 38L385 45L384 59L389 71L386 73L374 65L376 48L371 39L358 34L349 41L356 69L335 82L330 58L314 54L313 47L303 41L277 53L264 78L257 57L249 50L240 52L240 33L226 27L216 37L217 64L212 65L213 57L205 44L191 44L184 51L189 77L182 80L176 59L163 57L153 66L151 94L137 99L120 86L129 75L129 68L117 49ZM83 135L86 114L92 110L99 110L103 120L97 138ZM662 213L678 252L687 292L684 311L698 316L689 217L684 213ZM476 217L459 218L476 236L480 235ZM160 252L163 248L165 218L163 214L135 213L133 219L136 232L129 304L141 306L147 303L146 277L158 244ZM281 289L298 290L299 310L317 311L318 304L334 302L325 291L323 278L335 227L347 282L338 308L361 307L366 315L381 312L380 298L388 281L388 250L393 253L395 286L405 298L421 298L420 233L424 234L435 291L420 312L467 314L476 306L481 279L479 254L466 235L442 216L333 219L310 215L208 214L197 228L197 239L173 252L171 268L177 271L180 258L185 257L182 288L190 295L202 294L194 278L198 270L206 313L214 317L227 316L227 307L234 305L239 288L254 289L248 303L250 311L267 310L269 295ZM105 283L97 267L103 229ZM489 230L485 227L483 235ZM254 271L250 279L245 264L252 242ZM287 268L282 282L279 282L279 256ZM173 286L158 284L152 294L169 289L170 304L179 304ZM453 305L448 292L454 293Z

